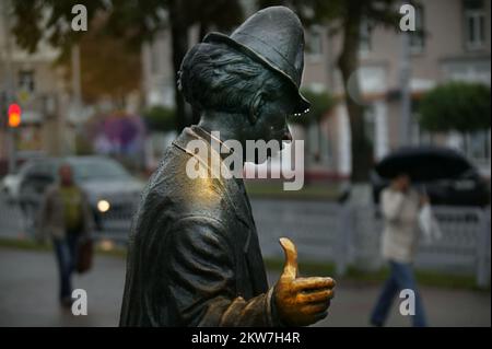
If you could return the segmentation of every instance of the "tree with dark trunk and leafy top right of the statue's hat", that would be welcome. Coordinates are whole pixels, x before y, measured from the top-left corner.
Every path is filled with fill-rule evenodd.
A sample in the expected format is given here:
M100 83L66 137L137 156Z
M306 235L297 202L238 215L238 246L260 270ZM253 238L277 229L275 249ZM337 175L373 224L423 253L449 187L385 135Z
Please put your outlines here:
M372 144L365 132L364 105L360 103L361 88L352 75L360 67L359 47L361 25L367 21L371 26L394 26L398 24L399 14L396 0L259 0L260 7L284 4L292 8L304 25L325 24L330 33L341 34L341 51L337 59L340 69L344 102L350 119L352 142L353 183L367 182L372 167ZM350 93L349 93L350 83Z

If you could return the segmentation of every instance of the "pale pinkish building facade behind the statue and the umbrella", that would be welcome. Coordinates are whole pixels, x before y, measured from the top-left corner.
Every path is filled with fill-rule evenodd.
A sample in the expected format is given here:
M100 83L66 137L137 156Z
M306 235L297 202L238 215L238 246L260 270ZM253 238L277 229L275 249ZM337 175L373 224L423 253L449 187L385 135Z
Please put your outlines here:
M402 144L434 143L464 151L483 175L490 176L490 130L467 135L427 135L419 128L418 103L423 93L452 80L481 82L490 85L491 19L490 1L426 0L415 9L414 33L409 34L405 49L398 28L361 26L359 79L360 103L366 106L367 138L373 143L374 160ZM253 12L251 7L246 10ZM330 35L327 26L306 28L306 55L303 86L343 95L337 67L341 37ZM190 43L197 42L191 33ZM144 95L148 105L173 105L174 74L171 63L171 36L163 32L143 47ZM407 54L405 54L407 53ZM407 55L407 56L403 56ZM408 57L412 115L401 127L400 77ZM350 93L350 91L349 91ZM344 104L340 103L325 117L321 130L295 130L307 143L308 171L336 177L351 172L350 124ZM403 129L408 137L402 137Z

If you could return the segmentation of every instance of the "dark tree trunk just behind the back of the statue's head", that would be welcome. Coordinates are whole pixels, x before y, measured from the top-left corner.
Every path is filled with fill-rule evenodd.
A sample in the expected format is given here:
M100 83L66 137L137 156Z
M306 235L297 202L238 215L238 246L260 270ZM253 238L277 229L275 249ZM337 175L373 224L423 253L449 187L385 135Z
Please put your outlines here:
M174 69L174 101L176 104L176 130L179 133L185 127L191 125L191 116L186 110L185 100L177 88L178 72L183 58L188 50L188 24L184 18L184 1L174 0L169 2L171 40L173 48Z

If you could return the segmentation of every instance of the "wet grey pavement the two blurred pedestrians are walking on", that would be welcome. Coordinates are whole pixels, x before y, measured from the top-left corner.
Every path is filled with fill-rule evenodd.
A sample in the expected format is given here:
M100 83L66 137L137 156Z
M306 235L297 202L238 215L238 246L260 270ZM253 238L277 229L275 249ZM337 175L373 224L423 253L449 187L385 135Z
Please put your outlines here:
M0 326L116 326L124 277L124 259L96 256L94 270L74 280L87 291L89 314L73 316L58 306L50 253L0 247ZM339 281L331 314L318 325L366 326L377 292L377 286ZM491 326L490 292L423 288L422 294L433 326ZM408 324L395 306L388 325Z

